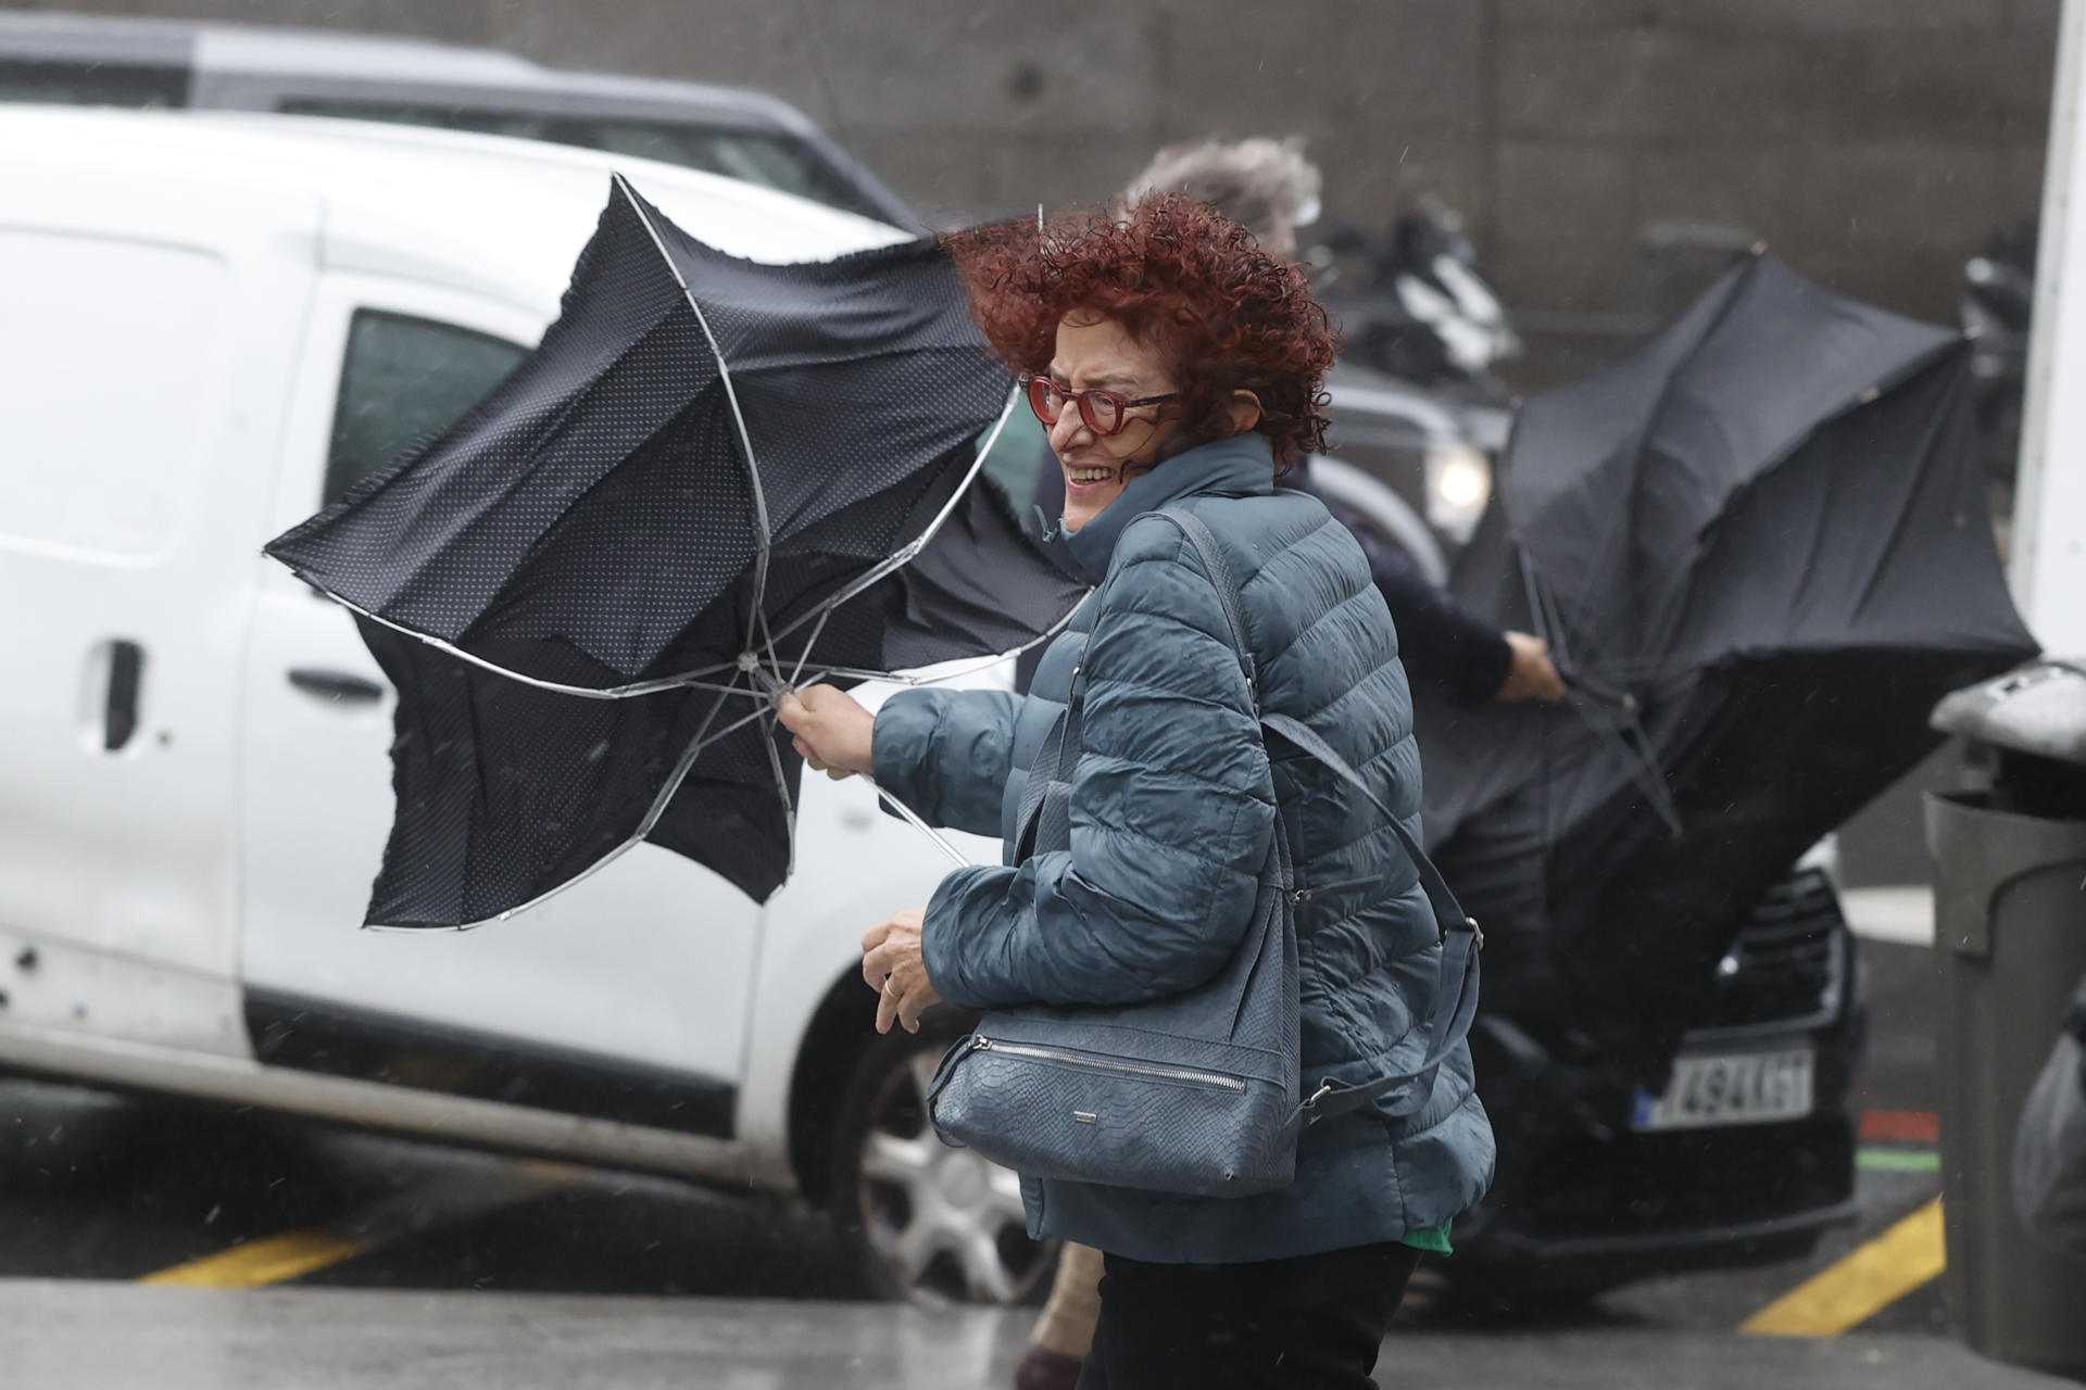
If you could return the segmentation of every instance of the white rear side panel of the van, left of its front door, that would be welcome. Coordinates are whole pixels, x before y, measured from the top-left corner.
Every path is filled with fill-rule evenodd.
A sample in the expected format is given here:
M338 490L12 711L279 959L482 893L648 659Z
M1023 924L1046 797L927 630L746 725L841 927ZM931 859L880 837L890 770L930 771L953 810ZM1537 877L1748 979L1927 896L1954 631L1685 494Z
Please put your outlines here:
M67 1027L219 1036L181 1013L238 961L240 671L317 202L33 156L0 183L0 934L123 961L42 1000ZM92 984L134 967L194 1002Z

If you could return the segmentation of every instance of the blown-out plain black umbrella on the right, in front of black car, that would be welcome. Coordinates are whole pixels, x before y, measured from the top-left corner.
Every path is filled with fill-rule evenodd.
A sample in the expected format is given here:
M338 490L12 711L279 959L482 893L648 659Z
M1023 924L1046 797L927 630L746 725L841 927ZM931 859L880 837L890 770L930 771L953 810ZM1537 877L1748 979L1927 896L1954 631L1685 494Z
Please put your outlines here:
M1564 709L1421 711L1427 831L1517 1011L1663 1061L1740 909L2034 652L1963 342L1771 256L1527 402L1454 588L1544 634Z

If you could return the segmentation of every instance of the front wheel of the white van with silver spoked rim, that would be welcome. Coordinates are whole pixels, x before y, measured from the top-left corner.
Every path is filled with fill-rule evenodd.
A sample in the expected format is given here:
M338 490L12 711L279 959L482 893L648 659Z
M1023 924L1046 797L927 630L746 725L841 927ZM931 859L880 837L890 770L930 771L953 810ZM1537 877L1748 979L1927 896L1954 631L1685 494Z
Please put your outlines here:
M1028 1238L1020 1180L926 1119L953 1019L874 1038L855 1065L832 1148L828 1211L864 1292L912 1302L1041 1302L1056 1242Z

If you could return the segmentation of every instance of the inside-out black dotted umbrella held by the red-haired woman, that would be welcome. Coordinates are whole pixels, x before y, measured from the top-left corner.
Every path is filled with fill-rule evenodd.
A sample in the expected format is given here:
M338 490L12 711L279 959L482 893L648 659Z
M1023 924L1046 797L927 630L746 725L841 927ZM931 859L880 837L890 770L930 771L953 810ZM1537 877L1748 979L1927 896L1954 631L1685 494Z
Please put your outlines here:
M1010 388L932 242L759 265L613 179L513 375L267 546L398 688L369 921L484 921L640 840L774 892L778 688L991 659L1083 594L978 477Z

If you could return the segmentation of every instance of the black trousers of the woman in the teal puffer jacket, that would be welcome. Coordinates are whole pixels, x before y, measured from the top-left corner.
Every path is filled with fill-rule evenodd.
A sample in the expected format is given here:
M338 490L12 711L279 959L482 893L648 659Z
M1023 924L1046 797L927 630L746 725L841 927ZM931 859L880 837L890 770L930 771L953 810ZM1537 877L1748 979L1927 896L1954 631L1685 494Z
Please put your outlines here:
M1402 1244L1254 1265L1110 1255L1078 1390L1366 1390L1418 1255Z

